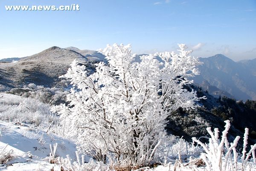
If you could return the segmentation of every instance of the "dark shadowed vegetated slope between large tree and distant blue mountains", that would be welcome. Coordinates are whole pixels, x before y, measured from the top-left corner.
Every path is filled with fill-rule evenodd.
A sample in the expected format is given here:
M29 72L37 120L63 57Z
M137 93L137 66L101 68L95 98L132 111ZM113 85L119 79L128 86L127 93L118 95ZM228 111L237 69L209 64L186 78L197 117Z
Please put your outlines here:
M208 135L207 127L212 127L212 130L219 128L219 131L223 131L224 121L230 120L230 140L239 135L241 146L244 129L247 127L249 128L249 143L256 143L256 101L247 100L244 103L225 96L214 98L201 87L192 85L188 88L193 88L199 97L205 95L207 99L199 101L200 107L197 109L179 109L173 112L166 126L169 133L183 136L188 141L191 141L192 137L201 137L201 141L207 142L205 138Z

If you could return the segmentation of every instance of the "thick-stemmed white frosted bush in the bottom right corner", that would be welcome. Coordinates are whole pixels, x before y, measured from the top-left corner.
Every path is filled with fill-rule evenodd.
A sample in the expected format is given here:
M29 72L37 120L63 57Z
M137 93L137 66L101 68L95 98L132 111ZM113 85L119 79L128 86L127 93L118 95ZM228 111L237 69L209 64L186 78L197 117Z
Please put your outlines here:
M226 126L224 131L222 132L221 140L219 140L219 131L218 128L214 129L212 132L211 128L207 128L207 132L211 136L209 138L209 144L203 144L200 140L195 137L192 140L198 143L200 146L204 148L204 153L201 154L201 158L207 165L207 170L209 171L245 171L246 167L249 166L248 159L251 155L253 155L253 160L255 163L255 149L256 144L251 146L249 152L246 153L247 147L247 136L248 129L245 129L244 133L244 146L242 151L242 156L239 157L239 154L236 151L236 145L239 141L239 136L235 138L233 143L229 143L227 140L227 133L230 128L230 121L225 121ZM239 159L240 158L240 159Z

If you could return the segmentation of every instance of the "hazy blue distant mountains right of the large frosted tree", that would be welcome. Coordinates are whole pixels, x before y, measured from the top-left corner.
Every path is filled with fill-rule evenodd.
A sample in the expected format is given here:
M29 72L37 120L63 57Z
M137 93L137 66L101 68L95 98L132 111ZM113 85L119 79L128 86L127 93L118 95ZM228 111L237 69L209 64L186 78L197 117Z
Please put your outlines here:
M203 88L205 84L209 84L224 90L228 97L243 101L256 100L256 59L234 62L224 55L217 54L200 58L200 61L204 62L199 66L201 74L193 79ZM209 91L211 94L214 94L213 92Z

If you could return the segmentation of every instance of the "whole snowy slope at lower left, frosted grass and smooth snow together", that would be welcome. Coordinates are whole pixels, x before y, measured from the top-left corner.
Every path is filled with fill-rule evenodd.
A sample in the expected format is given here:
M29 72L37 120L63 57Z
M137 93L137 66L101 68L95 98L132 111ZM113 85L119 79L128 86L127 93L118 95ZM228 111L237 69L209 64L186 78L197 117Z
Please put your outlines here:
M35 108L26 104L29 101ZM66 157L67 154L71 158L76 157L76 145L72 141L50 133L53 129L58 130L56 125L49 123L52 119L57 121L57 118L45 113L47 106L34 99L0 93L0 151L4 147L5 152L12 151L9 161L4 161L0 170L35 171L39 165L44 168L41 171L49 171L54 165L49 165L47 157L50 144L55 143L58 143L56 157Z

